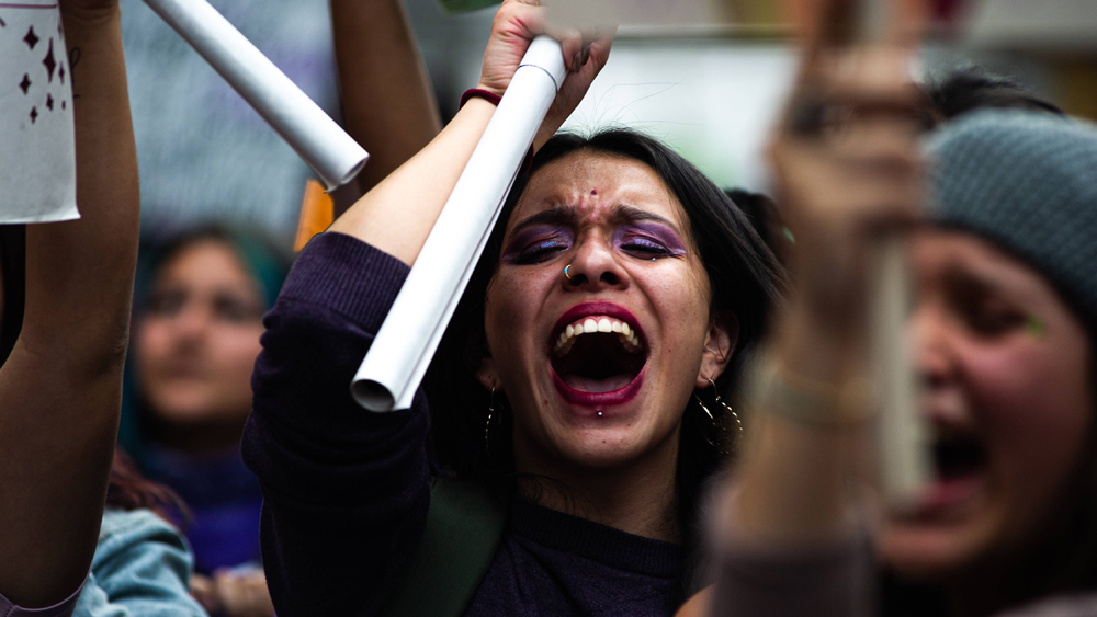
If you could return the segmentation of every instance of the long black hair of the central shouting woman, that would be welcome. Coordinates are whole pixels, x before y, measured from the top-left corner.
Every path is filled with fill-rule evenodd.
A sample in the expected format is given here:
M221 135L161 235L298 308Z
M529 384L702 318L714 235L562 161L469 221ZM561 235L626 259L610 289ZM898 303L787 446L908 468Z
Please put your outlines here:
M780 301L784 284L781 264L723 191L686 159L655 139L630 130L607 130L587 138L556 135L538 152L530 173L516 180L423 381L431 410L433 454L444 473L513 490L509 413L502 414L498 427L493 426L493 452L485 448L487 408L493 401L491 393L475 377L480 359L487 355L484 299L498 267L507 220L529 179L552 161L575 152L608 153L643 162L682 205L708 272L712 309L731 311L738 319L735 353L716 379L724 399L732 398L744 363L765 333L770 310ZM494 401L496 409L505 402L502 397ZM697 407L692 401L683 404ZM691 556L689 560L698 546L702 485L720 467L723 456L719 444L714 446L705 438L708 416L700 409L695 413L688 411L682 415L676 476L683 555ZM694 574L689 565L688 561L682 573L683 598L697 584L689 579Z

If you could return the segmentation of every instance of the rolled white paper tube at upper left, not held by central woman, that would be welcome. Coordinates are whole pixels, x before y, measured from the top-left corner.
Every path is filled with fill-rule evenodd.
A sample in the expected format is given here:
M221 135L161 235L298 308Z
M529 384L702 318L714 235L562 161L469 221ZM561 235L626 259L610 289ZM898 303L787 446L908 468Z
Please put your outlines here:
M285 139L329 191L370 155L205 0L145 0Z

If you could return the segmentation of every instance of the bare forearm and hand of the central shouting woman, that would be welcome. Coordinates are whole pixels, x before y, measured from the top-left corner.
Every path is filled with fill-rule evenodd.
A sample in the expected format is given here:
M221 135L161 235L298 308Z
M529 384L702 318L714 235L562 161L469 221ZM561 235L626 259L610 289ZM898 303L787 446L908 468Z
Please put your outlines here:
M545 32L544 9L530 0L506 0L496 13L477 85L502 94L533 37ZM565 79L534 148L553 133L583 100L590 82L609 58L611 35L593 38L585 52L578 32L551 32L563 41ZM415 262L442 206L472 156L495 105L472 99L418 155L358 201L331 226L385 251L406 264Z

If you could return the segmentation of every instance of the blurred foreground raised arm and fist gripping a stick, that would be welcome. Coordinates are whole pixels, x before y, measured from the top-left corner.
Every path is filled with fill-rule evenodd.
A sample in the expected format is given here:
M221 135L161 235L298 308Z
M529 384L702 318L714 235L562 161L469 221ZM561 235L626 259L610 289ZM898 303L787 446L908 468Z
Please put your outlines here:
M770 147L796 237L793 286L747 402L756 412L749 443L720 505L716 615L864 615L871 605L869 551L851 525L872 409L869 273L882 238L919 206L920 95L904 30L918 13L896 9L891 38L853 46L840 11L857 4L816 3L800 82Z

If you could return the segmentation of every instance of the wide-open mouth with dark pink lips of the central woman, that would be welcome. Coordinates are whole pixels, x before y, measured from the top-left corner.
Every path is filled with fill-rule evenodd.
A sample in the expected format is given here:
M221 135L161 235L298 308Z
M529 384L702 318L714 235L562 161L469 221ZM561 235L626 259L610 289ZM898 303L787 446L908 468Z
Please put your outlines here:
M648 347L636 319L610 302L586 302L553 328L548 364L556 389L568 402L620 404L643 382Z

